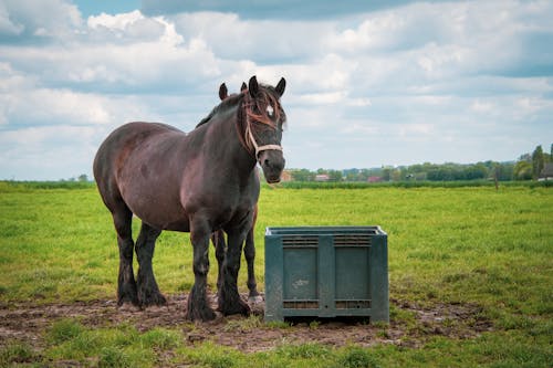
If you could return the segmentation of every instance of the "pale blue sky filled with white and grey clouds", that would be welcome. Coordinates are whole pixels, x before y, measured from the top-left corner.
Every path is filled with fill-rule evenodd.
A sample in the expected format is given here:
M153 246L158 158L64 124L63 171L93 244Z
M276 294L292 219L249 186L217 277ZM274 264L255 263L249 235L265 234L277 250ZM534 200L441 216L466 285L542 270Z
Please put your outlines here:
M288 81L289 168L515 160L553 143L553 1L0 0L0 179L91 176L132 120L190 130Z

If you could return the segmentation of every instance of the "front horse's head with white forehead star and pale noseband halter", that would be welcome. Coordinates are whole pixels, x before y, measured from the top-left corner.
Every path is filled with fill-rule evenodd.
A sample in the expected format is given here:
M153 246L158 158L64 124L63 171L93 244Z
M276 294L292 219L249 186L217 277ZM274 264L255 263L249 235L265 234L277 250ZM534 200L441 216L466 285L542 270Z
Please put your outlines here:
M284 169L282 154L282 126L286 115L280 104L286 81L281 78L275 87L258 84L255 76L243 90L246 111L244 141L263 169L268 182L279 182Z

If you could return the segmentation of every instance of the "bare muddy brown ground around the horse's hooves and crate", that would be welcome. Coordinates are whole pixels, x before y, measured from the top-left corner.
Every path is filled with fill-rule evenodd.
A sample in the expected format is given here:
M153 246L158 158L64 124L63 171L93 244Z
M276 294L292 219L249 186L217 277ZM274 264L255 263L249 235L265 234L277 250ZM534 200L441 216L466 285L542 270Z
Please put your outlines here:
M244 297L246 298L246 297ZM244 353L268 350L282 343L320 343L328 346L355 344L395 344L419 347L434 336L455 339L473 338L492 330L490 320L481 316L481 309L470 304L434 304L419 306L405 301L390 301L396 314L388 324L367 324L362 319L295 319L290 327L265 325L262 322L263 302L250 304L257 317L218 314L213 322L190 323L185 318L186 295L171 295L168 305L138 309L117 307L115 301L75 302L50 305L0 305L0 347L8 341L23 340L40 348L44 332L61 318L75 318L91 328L109 327L128 323L140 332L155 327L178 328L185 344L213 341ZM215 297L211 297L215 307ZM407 316L407 317L406 317Z

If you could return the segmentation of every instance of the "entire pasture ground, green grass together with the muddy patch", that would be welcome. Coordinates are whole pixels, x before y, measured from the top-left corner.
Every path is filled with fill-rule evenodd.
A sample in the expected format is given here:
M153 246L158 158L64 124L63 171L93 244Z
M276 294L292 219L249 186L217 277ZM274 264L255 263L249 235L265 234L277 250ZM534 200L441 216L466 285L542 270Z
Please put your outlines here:
M265 227L380 225L390 323L253 315L202 324L184 317L188 234L164 232L155 250L169 305L117 309L118 250L96 188L0 182L0 366L552 367L552 219L547 187L265 186L258 287ZM212 248L210 261L215 294ZM243 260L239 287L247 292Z

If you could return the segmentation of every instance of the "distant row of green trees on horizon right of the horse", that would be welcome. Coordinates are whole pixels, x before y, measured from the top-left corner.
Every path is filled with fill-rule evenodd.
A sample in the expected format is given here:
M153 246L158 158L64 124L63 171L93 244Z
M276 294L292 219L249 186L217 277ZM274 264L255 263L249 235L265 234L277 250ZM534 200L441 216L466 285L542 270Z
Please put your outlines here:
M457 181L457 180L532 180L538 179L546 162L553 162L550 153L538 146L532 154L522 155L517 161L478 164L418 164L411 166L384 166L371 169L290 170L294 181Z

